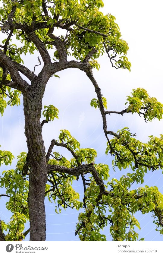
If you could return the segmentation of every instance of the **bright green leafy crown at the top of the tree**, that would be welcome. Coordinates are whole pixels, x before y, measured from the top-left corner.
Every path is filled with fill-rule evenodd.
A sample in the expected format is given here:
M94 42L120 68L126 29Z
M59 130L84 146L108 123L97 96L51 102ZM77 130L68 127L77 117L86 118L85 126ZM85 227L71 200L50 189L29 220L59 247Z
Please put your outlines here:
M12 17L12 34L15 36L8 39L7 56L23 64L24 54L33 54L34 50L38 50L28 37L28 33L34 31L35 36L45 44L46 49L54 50L53 60L58 60L59 52L55 49L55 40L52 41L49 37L49 30L60 28L62 34L58 40L64 41L67 55L83 61L93 47L96 51L90 63L96 63L94 60L106 49L112 65L115 63L116 68L130 70L130 62L125 56L128 45L121 38L115 17L111 14L104 15L99 11L99 8L103 7L102 1L46 1L46 11L44 5L44 1L3 1L3 7L0 9L0 21L3 21L2 30L8 30L8 14L11 10L15 10ZM15 37L18 44L21 43L20 47L15 44ZM4 39L3 43L6 40Z

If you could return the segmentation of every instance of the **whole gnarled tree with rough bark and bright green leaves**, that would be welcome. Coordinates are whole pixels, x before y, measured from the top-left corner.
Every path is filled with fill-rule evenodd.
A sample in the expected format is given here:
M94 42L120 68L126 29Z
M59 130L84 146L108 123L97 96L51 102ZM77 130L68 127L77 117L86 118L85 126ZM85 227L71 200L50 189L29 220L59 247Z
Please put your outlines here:
M6 194L1 196L9 198L6 207L13 213L9 223L0 221L0 240L21 240L30 231L31 241L45 241L45 196L56 203L59 212L61 207L84 209L76 228L81 241L105 241L100 230L107 224L114 241L135 241L138 234L134 227L139 227L134 217L137 211L152 212L162 234L162 194L156 187L133 190L132 185L143 183L147 170L163 169L163 135L151 136L148 143L142 143L127 127L109 131L106 116L137 113L145 122L160 120L163 105L146 90L137 88L127 96L124 110L105 110L107 101L92 73L93 68L99 68L96 59L104 52L112 67L130 71L131 64L126 57L128 45L121 39L115 17L99 11L103 7L101 0L3 0L2 4L0 112L3 114L7 104L19 105L20 94L23 95L28 152L20 153L16 168L5 171L0 180L1 187L6 188ZM56 36L57 28L60 36ZM23 62L24 54L36 51L40 55L38 65L42 65L38 75ZM45 152L42 126L58 118L58 109L49 105L42 112L42 98L50 77L58 77L56 73L67 68L85 72L95 88L97 98L90 104L102 115L106 154L114 156L113 168L130 168L119 181L109 179L107 165L94 163L96 150L80 148L80 143L67 130L61 130L58 140L52 139ZM45 119L41 122L42 115ZM52 154L54 147L70 151L71 160L57 151ZM0 164L11 164L12 160L11 152L0 151ZM82 201L72 186L75 179L83 181ZM30 228L24 232L27 220Z

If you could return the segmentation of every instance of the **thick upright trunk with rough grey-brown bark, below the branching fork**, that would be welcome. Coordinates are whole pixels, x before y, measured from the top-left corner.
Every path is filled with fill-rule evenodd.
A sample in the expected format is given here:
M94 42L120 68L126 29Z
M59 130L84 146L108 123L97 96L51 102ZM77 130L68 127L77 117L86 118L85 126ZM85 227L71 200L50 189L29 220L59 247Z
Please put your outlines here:
M30 241L45 241L46 239L44 198L47 165L40 125L44 90L45 83L41 84L40 81L34 81L24 94L25 135L31 166L28 194Z

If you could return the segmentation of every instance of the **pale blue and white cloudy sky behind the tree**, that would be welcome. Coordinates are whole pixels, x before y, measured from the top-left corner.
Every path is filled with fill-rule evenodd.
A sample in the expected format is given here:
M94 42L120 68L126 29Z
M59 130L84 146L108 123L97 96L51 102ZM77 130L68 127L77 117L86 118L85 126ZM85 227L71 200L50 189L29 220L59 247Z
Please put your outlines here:
M127 57L132 64L131 72L111 68L106 55L99 58L100 70L94 71L103 96L107 99L108 109L121 111L124 109L126 96L133 88L143 87L150 96L154 96L163 103L162 89L162 9L161 1L103 1L103 13L111 13L116 17L121 34L129 45ZM32 71L37 65L36 55L28 55L24 64ZM37 67L36 67L37 69ZM36 70L39 71L39 67ZM45 124L43 138L46 149L52 139L57 139L60 129L67 129L80 142L81 147L92 147L98 152L96 163L106 163L110 167L111 178L119 178L124 171L114 172L111 168L111 158L105 155L106 139L102 131L102 119L98 109L90 106L92 98L96 97L94 88L85 74L80 70L69 69L58 73L59 78L51 78L45 91L43 105L53 104L59 109L59 119ZM129 127L137 138L146 142L148 136L159 136L163 133L163 121L154 120L145 123L138 115L127 114L122 116L111 115L108 117L108 129L117 131ZM1 149L10 150L14 156L27 152L26 138L24 135L23 106L7 107L4 116L0 118L0 144ZM58 149L57 149L58 150ZM64 156L70 154L64 151ZM6 167L5 167L6 168ZM0 169L0 172L3 168ZM149 172L145 184L157 186L163 193L162 172ZM137 185L138 186L138 185ZM80 182L75 182L74 187L82 197L83 187ZM5 210L7 198L1 198L1 219L7 220L9 214ZM47 216L47 241L78 241L75 236L75 224L78 212L68 209L61 214L55 213L55 207L46 200ZM146 241L162 241L161 235L155 231L151 214L137 214L141 226L140 238ZM105 229L107 240L111 241L109 227ZM28 240L28 237L27 239Z

